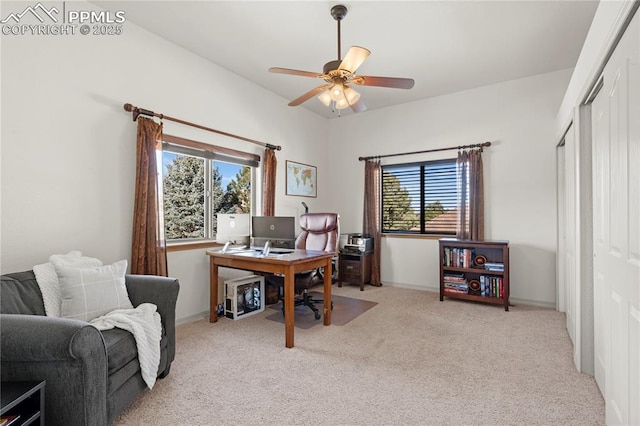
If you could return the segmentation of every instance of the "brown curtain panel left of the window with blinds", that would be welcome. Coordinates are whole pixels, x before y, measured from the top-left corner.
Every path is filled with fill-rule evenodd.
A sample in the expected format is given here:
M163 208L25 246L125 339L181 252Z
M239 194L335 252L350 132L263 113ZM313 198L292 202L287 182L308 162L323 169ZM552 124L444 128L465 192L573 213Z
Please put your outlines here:
M364 163L364 213L362 232L373 238L373 260L371 262L371 285L381 286L380 281L380 179L382 168L380 160L367 160Z

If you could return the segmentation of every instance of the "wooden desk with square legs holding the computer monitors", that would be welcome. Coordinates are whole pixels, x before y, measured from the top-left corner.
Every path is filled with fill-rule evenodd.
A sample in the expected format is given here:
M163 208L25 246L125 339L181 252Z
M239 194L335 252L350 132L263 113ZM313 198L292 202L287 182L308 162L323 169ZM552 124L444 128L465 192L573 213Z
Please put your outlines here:
M247 271L271 272L284 275L284 329L285 346L293 347L294 312L293 299L295 297L296 272L308 271L315 268L331 270L331 259L334 254L324 251L295 250L286 254L269 254L262 256L256 251L229 250L220 253L219 250L209 250L210 257L210 296L209 322L218 321L218 267L244 269ZM331 274L324 274L324 325L331 324Z

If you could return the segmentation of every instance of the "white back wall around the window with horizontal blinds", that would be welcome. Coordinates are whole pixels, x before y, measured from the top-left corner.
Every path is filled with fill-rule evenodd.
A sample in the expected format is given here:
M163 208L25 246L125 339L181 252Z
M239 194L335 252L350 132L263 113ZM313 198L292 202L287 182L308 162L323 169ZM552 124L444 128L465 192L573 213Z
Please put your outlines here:
M554 118L571 70L330 121L336 192L344 232L362 228L364 165L359 156L490 141L483 155L486 238L510 240L511 297L555 306ZM384 123L381 125L381 123ZM456 151L393 157L383 164L455 157ZM438 243L383 238L382 282L436 291Z

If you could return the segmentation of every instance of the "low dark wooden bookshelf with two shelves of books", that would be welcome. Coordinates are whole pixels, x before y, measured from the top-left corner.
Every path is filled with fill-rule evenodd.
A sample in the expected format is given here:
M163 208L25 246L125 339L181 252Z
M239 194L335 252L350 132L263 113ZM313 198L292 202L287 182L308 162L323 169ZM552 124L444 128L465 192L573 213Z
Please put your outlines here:
M440 301L503 305L509 310L509 241L440 239Z

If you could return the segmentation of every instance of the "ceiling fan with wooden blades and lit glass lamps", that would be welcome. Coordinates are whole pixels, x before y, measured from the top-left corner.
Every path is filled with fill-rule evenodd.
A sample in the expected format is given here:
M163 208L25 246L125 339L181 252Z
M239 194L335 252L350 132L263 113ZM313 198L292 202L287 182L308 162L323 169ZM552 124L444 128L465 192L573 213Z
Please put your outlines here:
M290 68L269 68L269 72L273 73L314 77L324 80L324 84L292 100L289 102L289 106L298 106L319 95L318 99L326 106L333 105L338 110L351 107L354 112L361 112L366 110L367 107L360 101L360 94L349 86L351 83L361 86L391 87L395 89L411 89L413 87L414 81L411 78L356 75L355 72L358 67L362 65L371 53L364 47L352 46L347 52L347 56L341 59L340 22L346 15L347 7L344 5L339 4L331 8L331 16L338 22L338 59L327 62L322 69L322 74Z

